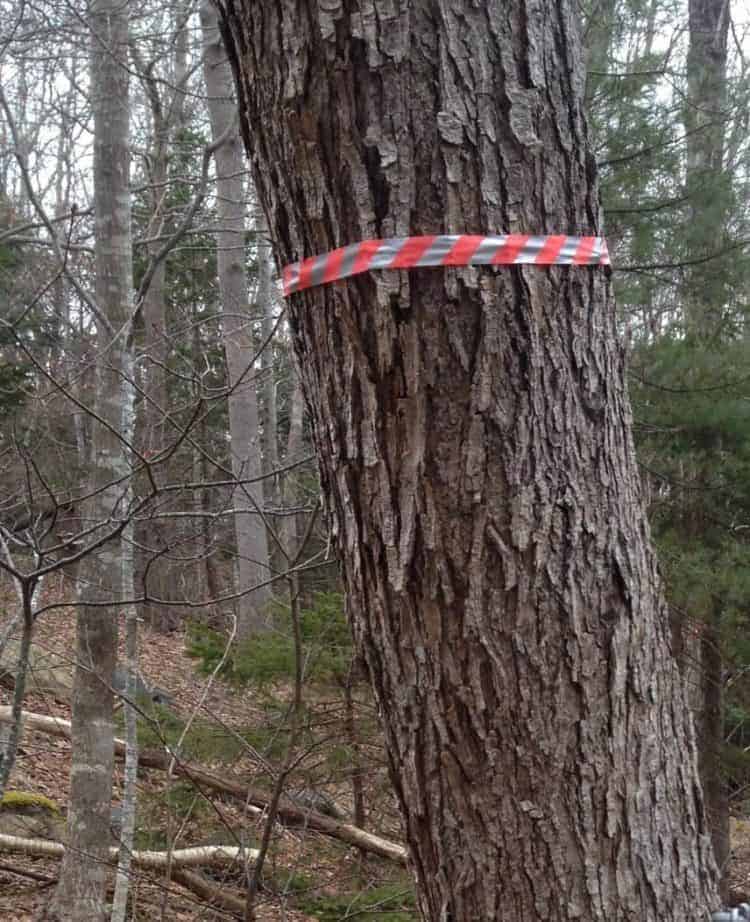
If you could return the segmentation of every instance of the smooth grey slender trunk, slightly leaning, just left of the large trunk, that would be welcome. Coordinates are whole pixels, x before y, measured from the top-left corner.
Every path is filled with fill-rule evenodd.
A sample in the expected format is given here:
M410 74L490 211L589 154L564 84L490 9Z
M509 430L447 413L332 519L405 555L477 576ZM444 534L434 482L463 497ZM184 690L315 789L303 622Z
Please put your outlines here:
M219 36L216 13L209 3L201 6L204 35L204 74L208 94L211 131L220 138L237 117L232 73ZM224 351L229 385L229 431L232 471L238 481L234 496L237 536L238 591L244 593L238 605L237 639L265 630L264 605L267 589L253 589L268 579L268 539L263 509L263 484L258 423L258 397L252 367L254 354L248 311L245 271L245 169L239 126L219 147L216 159L217 219L219 232L218 272L223 312ZM262 275L261 275L262 280ZM260 294L260 293L259 293Z

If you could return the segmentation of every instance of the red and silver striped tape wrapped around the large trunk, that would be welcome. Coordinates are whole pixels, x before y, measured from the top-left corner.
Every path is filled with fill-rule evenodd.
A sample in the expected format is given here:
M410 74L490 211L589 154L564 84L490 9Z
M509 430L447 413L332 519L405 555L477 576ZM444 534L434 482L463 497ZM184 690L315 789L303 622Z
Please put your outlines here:
M363 240L285 266L284 297L370 269L423 266L608 266L604 237L448 234Z

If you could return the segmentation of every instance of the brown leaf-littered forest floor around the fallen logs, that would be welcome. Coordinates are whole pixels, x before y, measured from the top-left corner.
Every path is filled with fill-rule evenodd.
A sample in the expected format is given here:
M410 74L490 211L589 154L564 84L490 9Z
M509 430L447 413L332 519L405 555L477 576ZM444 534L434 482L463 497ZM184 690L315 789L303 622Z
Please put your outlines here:
M0 603L2 603L0 599ZM9 599L10 603L11 600ZM74 614L70 610L50 613L38 628L37 642L72 659L75 648ZM142 627L140 637L141 673L152 685L169 692L173 699L171 710L186 719L194 715L196 724L206 736L206 728L213 727L213 736L203 743L206 752L200 759L202 767L214 774L231 775L246 784L262 786L257 748L228 746L233 738L248 738L248 726L262 726L268 717L267 696L243 689L238 691L221 679L207 688L205 676L196 671L194 660L186 652L186 637L177 632L158 634ZM11 693L0 686L0 704L10 703ZM325 738L328 745L341 738L342 728L337 725L336 709L326 710L327 702L316 702L322 713L331 715ZM64 701L49 695L30 694L26 709L36 713L70 718L70 707ZM319 711L321 709L319 708ZM181 724L184 726L184 724ZM165 732L166 732L165 727ZM120 734L122 735L122 734ZM377 736L377 734L375 734ZM252 737L254 739L254 737ZM268 740L267 736L260 739ZM325 755L317 750L320 741L311 746L317 763ZM273 740L269 749L273 749ZM398 819L393 798L385 775L379 740L370 741L373 760L367 766L367 799L373 831L398 840ZM231 757L222 747L232 750ZM269 753L269 758L271 755ZM262 760L260 760L262 764ZM41 733L27 733L22 739L10 789L43 794L59 804L63 812L68 801L70 772L70 744ZM309 775L305 776L309 777ZM116 771L115 802L119 800L122 784L122 763ZM351 809L348 782L337 783L334 774L326 776L325 793ZM204 792L205 793L205 792ZM197 792L179 779L165 777L164 772L142 770L139 777L139 835L142 848L163 848L165 836L174 847L198 844L219 844L236 841L236 837L250 845L257 845L261 835L262 818L244 814L240 805L228 798L197 796ZM231 833L227 837L226 833ZM113 844L116 838L113 835ZM7 922L31 922L49 900L57 879L57 861L0 854L0 919ZM224 872L213 872L213 880L222 880ZM31 876L27 876L31 875ZM112 874L112 883L114 874ZM235 893L242 889L242 876L230 875L225 884ZM732 861L729 868L732 903L750 901L750 820L732 820ZM385 860L362 858L354 849L342 843L317 835L310 830L281 829L276 827L273 846L266 864L264 886L256 906L258 922L315 922L348 916L346 894L367 892L384 893L384 907L391 908L387 899L393 893L408 890L408 876ZM216 909L200 901L191 891L174 882L165 883L162 876L134 872L132 879L132 917L138 922L155 920L223 920L236 918L226 910ZM335 903L327 909L326 899L338 899L343 908L340 914ZM387 905L386 905L387 903ZM375 908L375 907L373 907ZM371 910L372 911L372 910ZM359 915L359 913L357 913ZM405 906L401 911L377 916L402 922L416 918Z

